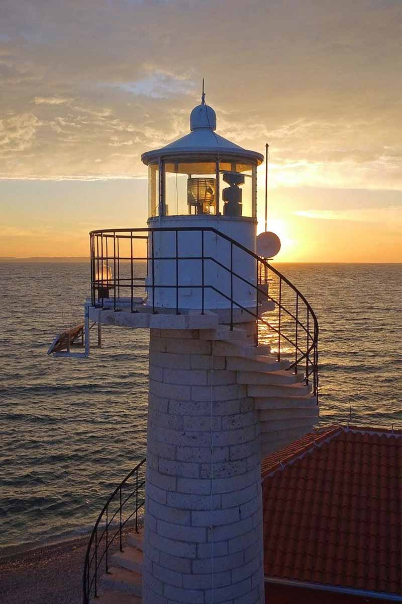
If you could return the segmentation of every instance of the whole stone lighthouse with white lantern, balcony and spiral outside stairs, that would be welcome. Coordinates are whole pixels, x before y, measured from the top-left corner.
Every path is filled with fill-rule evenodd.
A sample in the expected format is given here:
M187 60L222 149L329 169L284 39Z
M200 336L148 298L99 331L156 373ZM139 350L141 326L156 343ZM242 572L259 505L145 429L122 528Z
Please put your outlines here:
M142 161L147 227L90 233L87 352L90 321L149 329L142 553L118 564L136 570L142 604L260 604L261 460L315 425L318 324L257 254L263 155L216 133L204 94L190 132Z

